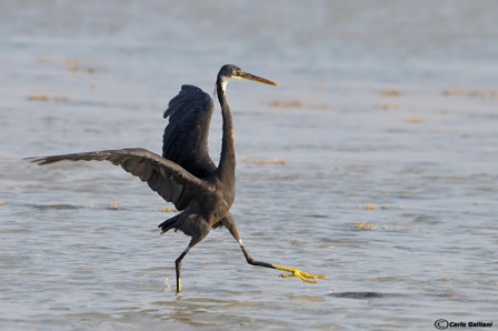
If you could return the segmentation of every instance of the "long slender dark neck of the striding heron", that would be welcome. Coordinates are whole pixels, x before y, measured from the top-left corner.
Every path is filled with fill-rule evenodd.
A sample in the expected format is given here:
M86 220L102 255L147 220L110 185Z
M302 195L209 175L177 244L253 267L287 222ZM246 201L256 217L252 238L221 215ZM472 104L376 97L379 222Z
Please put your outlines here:
M218 100L221 106L221 117L223 119L223 138L221 141L221 157L217 169L217 174L226 188L235 190L236 184L236 146L233 137L233 122L225 97L225 89L221 82L217 82ZM231 203L231 202L230 202Z

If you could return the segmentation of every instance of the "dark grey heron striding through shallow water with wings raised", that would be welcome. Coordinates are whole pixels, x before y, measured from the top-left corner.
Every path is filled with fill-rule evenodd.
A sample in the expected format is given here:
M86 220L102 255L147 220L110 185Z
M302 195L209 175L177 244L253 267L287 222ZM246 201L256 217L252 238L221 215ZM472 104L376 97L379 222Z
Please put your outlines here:
M147 182L149 187L179 211L158 225L161 234L171 229L191 237L187 248L175 261L177 293L182 291L181 262L187 253L211 229L225 227L237 240L249 264L286 272L282 278L298 278L316 283L325 275L311 274L297 268L255 260L246 249L230 208L236 195L236 149L233 121L227 101L227 84L249 80L278 86L268 79L247 73L232 64L223 66L216 80L215 93L221 107L222 139L218 167L208 151L208 136L215 103L201 89L185 84L168 104L163 118L169 118L162 137L162 157L142 148L126 148L92 152L28 158L38 164L59 161L109 161Z

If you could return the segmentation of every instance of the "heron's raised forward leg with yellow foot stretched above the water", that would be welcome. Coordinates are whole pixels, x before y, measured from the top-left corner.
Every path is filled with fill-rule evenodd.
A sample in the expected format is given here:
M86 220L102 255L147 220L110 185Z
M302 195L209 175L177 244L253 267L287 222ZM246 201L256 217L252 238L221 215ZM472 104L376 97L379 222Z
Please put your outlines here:
M285 265L279 265L279 264L270 264L267 262L260 262L260 261L256 261L255 259L252 259L247 249L246 245L242 242L242 238L239 234L239 230L237 229L237 223L233 220L233 217L229 213L225 217L225 227L228 229L228 231L230 231L231 235L237 240L237 242L240 245L240 249L242 250L243 255L246 257L246 260L249 264L251 265L257 265L257 267L265 267L265 268L271 268L271 269L277 269L280 271L286 271L286 272L290 272L289 274L281 274L281 278L291 278L291 277L297 277L300 280L308 282L308 283L316 283L317 279L326 279L327 275L323 274L311 274L308 272L303 272L299 269L296 268L290 268L290 267L285 267Z

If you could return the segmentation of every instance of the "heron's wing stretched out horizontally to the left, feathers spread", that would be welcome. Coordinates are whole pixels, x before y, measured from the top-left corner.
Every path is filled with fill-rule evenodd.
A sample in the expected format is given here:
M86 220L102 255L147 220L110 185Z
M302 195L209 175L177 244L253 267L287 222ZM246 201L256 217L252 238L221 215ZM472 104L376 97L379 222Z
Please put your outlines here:
M208 182L195 177L175 162L141 148L30 158L30 160L38 164L63 160L112 162L146 181L166 201L175 203L178 210L186 209L190 200L199 192L211 189Z

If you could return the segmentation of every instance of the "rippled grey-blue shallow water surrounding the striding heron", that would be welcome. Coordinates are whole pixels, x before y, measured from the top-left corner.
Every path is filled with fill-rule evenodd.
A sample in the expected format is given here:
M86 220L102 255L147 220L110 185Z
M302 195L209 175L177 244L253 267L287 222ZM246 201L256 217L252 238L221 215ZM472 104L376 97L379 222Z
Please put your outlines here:
M498 323L495 2L1 7L2 330ZM228 91L245 242L318 284L247 265L217 230L176 295L171 205L109 164L22 160L159 152L169 99L227 62L281 84Z

